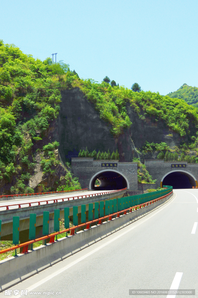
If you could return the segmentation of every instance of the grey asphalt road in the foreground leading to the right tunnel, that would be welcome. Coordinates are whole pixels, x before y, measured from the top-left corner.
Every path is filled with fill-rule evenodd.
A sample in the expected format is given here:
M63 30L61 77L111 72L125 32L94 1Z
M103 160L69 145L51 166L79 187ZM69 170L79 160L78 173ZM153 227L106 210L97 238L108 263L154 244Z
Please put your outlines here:
M10 289L47 291L48 297L120 298L129 297L129 289L170 289L173 283L172 288L195 289L195 296L179 297L198 297L197 222L198 191L174 190L155 211Z

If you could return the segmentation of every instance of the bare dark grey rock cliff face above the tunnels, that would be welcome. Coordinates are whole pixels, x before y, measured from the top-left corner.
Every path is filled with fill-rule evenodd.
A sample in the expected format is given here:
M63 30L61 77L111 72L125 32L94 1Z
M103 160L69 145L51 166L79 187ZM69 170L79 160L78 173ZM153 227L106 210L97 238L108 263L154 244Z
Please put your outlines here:
M58 117L58 142L60 158L65 163L71 157L77 157L79 150L88 147L89 152L119 150L120 162L131 162L137 157L135 148L141 148L145 141L149 143L166 142L170 147L178 145L181 139L169 131L163 121L154 122L147 117L142 120L133 108L127 104L127 112L132 122L131 128L114 138L110 134L110 125L100 119L99 113L83 95L74 88L62 91L62 102ZM168 134L173 136L168 136ZM53 136L54 139L54 136Z

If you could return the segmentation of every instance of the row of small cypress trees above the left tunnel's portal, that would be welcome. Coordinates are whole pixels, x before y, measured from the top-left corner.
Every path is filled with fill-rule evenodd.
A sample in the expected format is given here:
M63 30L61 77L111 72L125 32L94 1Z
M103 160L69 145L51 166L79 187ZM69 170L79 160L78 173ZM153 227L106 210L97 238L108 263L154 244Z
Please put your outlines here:
M96 150L93 150L93 152L88 151L87 147L86 150L80 150L78 157L93 157L93 159L102 159L102 160L119 160L119 153L118 150L116 150L116 153L113 151L113 153L110 155L110 151L108 149L108 152L105 151L105 153L102 151L100 152L100 150L98 151L98 153L96 152Z

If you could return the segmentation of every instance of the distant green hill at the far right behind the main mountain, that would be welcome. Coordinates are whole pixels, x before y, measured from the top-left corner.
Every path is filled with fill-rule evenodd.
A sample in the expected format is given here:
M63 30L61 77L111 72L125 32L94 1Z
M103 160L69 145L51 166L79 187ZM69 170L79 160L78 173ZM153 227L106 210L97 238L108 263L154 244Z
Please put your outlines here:
M171 98L179 98L185 100L188 105L198 106L198 88L183 84L177 91L167 94Z

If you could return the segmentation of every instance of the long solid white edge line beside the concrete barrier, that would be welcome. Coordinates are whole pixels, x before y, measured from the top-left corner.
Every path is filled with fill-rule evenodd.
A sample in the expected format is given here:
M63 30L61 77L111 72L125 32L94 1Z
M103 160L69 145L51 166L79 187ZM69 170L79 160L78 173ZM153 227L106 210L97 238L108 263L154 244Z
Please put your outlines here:
M175 198L177 197L177 194L175 194ZM175 199L174 198L174 199ZM127 231L121 233L120 235L116 236L115 238L107 241L106 243L102 244L101 246L97 247L96 249L93 249L91 252L88 252L87 254L85 254L84 256L80 257L79 259L75 260L74 262L71 262L70 264L66 265L65 267L57 270L56 272L50 274L49 276L43 278L42 280L40 280L38 283L35 283L34 285L31 285L29 288L27 288L26 290L32 291L33 289L37 288L39 285L42 285L43 283L45 283L46 281L52 279L53 277L57 276L58 274L62 273L63 271L67 270L68 268L72 267L73 265L79 263L80 261L84 260L86 257L90 256L91 254L94 254L95 252L99 251L100 249L102 249L103 247L107 246L108 244L112 243L114 240L117 240L118 238L120 238L121 236L127 234L128 232L130 232L131 230L135 229L136 227L140 226L141 224L143 224L145 221L147 221L148 219L152 218L153 216L155 216L156 214L158 214L160 211L162 211L164 208L166 208L167 206L169 206L174 199L167 205L165 205L162 209L158 210L157 212L155 212L154 214L152 214L151 216L149 216L148 218L144 219L144 221L141 221L139 224L134 225L132 228L128 229ZM24 295L20 295L18 297L21 297ZM15 297L15 296L12 296Z

